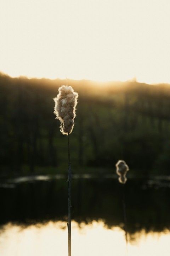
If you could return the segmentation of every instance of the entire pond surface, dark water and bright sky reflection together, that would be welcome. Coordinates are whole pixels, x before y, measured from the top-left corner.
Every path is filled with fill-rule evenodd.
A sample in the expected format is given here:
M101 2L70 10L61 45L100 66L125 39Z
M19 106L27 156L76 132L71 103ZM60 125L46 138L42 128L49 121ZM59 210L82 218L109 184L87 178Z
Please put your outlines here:
M63 175L1 182L0 254L68 255L67 192ZM169 177L73 175L72 255L170 255L169 198Z

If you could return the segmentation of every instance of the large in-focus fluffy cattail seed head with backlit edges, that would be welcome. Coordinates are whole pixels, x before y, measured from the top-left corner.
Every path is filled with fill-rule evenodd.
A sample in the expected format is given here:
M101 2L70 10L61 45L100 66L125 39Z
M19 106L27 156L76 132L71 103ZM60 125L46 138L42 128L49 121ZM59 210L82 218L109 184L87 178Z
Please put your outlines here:
M70 134L74 127L75 107L77 105L78 93L74 92L71 86L62 85L55 101L55 111L57 118L61 121L62 134Z

